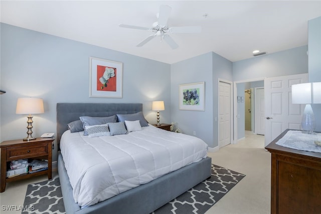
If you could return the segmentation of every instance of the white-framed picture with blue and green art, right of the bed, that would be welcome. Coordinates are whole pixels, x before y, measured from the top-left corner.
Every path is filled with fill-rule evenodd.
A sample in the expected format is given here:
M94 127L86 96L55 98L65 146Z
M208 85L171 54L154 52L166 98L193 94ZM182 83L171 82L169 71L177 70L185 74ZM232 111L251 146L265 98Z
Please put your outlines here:
M179 85L179 109L205 111L205 82Z

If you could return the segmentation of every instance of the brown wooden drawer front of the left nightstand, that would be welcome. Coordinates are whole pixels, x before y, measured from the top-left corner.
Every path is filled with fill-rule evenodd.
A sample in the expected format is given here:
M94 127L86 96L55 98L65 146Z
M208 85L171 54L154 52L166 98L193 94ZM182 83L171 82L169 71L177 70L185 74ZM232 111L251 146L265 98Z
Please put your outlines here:
M7 150L7 160L23 159L33 156L48 155L48 144L9 148Z

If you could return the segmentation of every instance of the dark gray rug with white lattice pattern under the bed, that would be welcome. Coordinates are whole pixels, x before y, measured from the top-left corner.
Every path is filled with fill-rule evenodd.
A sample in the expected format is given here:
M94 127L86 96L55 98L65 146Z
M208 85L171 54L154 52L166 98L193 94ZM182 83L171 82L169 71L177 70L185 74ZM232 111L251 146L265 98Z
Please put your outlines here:
M232 189L244 174L212 164L212 176L174 200L153 211L152 214L204 214L211 206ZM39 183L29 184L22 211L28 213L65 213L59 177ZM32 209L32 210L31 210Z

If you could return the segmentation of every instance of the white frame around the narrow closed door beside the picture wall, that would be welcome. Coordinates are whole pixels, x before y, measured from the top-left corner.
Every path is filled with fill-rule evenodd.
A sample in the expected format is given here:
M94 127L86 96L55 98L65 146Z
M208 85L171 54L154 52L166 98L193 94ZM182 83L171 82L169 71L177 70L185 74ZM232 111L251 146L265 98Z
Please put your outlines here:
M230 103L231 103L231 109L230 109L230 128L231 128L231 131L230 131L230 144L233 144L234 142L234 138L233 138L233 124L234 124L234 120L233 120L233 108L234 108L234 103L233 103L233 91L234 91L234 85L233 85L233 82L232 81L229 81L229 80L224 80L224 79L220 79L218 78L218 82L217 82L217 87L218 87L218 98L220 97L220 82L223 82L223 83L227 83L227 84L230 84L231 85L231 92L230 92ZM218 102L217 102L217 115L220 115L220 99L218 99ZM218 134L217 134L217 142L218 142L218 147L219 147L219 141L220 141L220 126L219 126L219 123L220 123L220 117L217 118L217 122L218 124Z

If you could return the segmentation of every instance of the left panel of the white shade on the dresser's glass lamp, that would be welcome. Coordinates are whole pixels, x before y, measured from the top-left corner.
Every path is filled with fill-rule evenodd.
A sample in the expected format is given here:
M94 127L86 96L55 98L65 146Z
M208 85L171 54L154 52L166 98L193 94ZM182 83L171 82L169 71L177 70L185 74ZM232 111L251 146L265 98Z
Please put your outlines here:
M311 83L292 85L292 103L310 104L311 103Z

